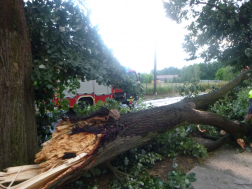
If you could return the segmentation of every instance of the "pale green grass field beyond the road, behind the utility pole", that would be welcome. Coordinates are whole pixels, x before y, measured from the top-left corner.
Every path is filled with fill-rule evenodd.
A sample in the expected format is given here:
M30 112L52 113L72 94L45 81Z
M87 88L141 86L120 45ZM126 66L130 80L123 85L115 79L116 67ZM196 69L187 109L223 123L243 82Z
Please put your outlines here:
M221 83L217 83L217 82L209 82L209 83L199 83L199 85L204 86L204 88L206 88L206 91L210 91L212 89L212 86L215 87L223 87L224 85L226 85L227 82L221 82ZM144 94L153 94L153 88L154 85L151 83L148 83L146 85L146 83L143 83L143 88L144 88ZM157 94L175 94L176 93L176 87L177 86L182 86L183 83L158 83L156 85L156 89L157 89Z

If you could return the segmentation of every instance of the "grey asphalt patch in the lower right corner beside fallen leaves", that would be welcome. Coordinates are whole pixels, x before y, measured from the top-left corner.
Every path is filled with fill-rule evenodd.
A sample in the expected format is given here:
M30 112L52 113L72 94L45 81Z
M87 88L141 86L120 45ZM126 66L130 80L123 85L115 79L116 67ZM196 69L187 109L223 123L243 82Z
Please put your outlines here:
M252 153L238 153L225 145L189 173L196 174L194 189L252 189Z

